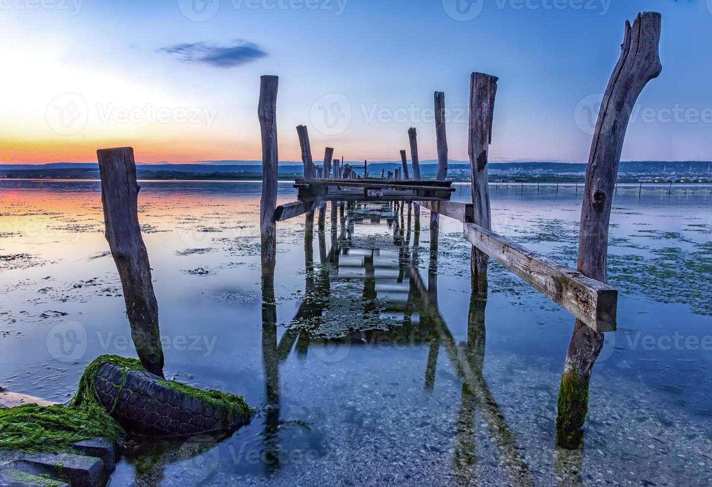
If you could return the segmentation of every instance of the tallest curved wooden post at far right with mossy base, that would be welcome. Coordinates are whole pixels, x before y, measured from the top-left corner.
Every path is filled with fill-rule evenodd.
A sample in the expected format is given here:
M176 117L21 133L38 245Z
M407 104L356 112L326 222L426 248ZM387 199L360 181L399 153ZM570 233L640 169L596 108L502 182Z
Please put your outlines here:
M622 52L603 96L581 206L578 270L606 282L606 249L611 203L623 141L638 96L659 76L661 17L639 14L633 26L626 21ZM588 407L591 369L603 347L603 334L576 320L559 389L557 445L577 448Z

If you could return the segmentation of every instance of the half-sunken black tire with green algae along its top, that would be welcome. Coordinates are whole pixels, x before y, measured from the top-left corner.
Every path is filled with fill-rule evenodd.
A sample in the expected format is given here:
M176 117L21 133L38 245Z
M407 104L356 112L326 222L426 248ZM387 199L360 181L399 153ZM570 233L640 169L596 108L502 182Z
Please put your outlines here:
M193 436L232 431L251 417L240 396L201 391L117 364L99 366L94 385L101 404L132 434Z

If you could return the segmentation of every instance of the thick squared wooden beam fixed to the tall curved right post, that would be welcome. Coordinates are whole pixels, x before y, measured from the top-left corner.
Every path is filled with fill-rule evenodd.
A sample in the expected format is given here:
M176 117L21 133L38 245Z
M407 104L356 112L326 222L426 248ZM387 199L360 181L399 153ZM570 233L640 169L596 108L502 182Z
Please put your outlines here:
M617 289L474 223L464 224L464 237L589 327L599 332L615 331Z

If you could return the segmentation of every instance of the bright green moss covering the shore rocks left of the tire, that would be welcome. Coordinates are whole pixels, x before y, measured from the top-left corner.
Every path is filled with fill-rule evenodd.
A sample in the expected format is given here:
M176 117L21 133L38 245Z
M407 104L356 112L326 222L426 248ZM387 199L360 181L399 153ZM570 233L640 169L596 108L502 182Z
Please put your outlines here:
M124 431L102 406L94 387L96 373L105 363L122 366L125 374L142 368L135 359L102 355L84 370L78 390L68 404L23 404L0 409L0 449L58 452L68 451L77 441L95 436L122 438Z

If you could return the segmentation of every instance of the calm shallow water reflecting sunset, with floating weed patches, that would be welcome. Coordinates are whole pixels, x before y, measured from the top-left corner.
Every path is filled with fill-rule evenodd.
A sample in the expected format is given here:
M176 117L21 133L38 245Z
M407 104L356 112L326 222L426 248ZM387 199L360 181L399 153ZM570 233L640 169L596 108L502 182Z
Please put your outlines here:
M312 259L304 217L278 224L263 327L260 183L141 185L166 376L260 414L219 444L135 451L112 485L712 483L709 186L619 187L618 331L572 453L553 436L574 319L493 262L488 302L471 302L461 224L441 217L436 261L426 210L417 234L375 205L332 232L328 209ZM493 230L575 267L581 189L493 185ZM294 198L281 183L278 203ZM94 357L135 356L100 185L1 180L0 208L0 386L66 401Z

